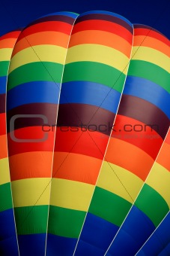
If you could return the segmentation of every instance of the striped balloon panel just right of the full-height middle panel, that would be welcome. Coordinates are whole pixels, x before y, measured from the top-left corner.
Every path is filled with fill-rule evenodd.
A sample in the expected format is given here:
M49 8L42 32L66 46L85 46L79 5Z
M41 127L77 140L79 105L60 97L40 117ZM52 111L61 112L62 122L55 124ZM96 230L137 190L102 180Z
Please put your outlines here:
M101 250L97 255L103 255L103 251L107 250L150 172L169 129L169 47L161 44L159 39L163 36L160 33L151 32L145 41L145 47L141 45L138 49L145 38L145 30L148 32L149 28L141 30L139 32L138 26L135 26L132 60L123 96L79 239L77 254L82 248L85 254L90 253L93 244ZM163 50L166 54L154 49L156 42L153 34L157 35L161 47L165 47ZM163 40L166 41L165 38ZM154 58L153 51L156 52ZM150 72L146 72L148 69L153 70L152 76ZM155 72L157 74L158 71L163 73L159 77L163 80L160 83L155 78ZM151 96L150 92L153 90L154 95ZM157 102L154 100L156 96ZM164 111L160 109L161 104ZM143 216L145 212L141 211L139 215ZM125 239L121 240L123 242ZM124 250L123 254L127 254L126 246L121 246L121 243L119 250ZM117 252L119 251L114 251L115 254Z

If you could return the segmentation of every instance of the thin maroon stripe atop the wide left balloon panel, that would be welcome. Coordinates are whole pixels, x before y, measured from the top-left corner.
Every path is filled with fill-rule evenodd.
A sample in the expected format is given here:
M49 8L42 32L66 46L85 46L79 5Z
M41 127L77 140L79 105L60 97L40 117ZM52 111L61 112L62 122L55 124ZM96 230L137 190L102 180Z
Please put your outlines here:
M46 22L46 21L61 21L61 22L64 22L64 23L68 23L70 25L73 25L74 23L74 20L72 17L68 17L68 16L64 16L64 15L52 15L52 16L48 16L48 17L42 17L38 20L35 20L33 21L32 23L30 23L27 28L29 26L33 26L37 23L43 23L43 22Z

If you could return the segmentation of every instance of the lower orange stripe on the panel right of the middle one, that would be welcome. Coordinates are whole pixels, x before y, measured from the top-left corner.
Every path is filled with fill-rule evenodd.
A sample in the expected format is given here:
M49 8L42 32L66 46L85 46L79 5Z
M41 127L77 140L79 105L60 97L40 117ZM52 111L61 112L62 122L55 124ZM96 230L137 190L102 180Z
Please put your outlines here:
M154 160L141 149L120 139L111 138L105 160L133 172L145 181Z

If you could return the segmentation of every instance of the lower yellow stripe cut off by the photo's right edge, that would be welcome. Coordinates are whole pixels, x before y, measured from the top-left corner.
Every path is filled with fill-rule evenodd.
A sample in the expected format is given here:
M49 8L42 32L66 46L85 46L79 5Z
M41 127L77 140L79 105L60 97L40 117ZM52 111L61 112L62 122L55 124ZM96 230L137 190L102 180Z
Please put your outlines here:
M166 200L166 203L170 208L170 172L165 167L161 166L160 163L154 163L146 183L153 187L154 190L157 190L157 192Z

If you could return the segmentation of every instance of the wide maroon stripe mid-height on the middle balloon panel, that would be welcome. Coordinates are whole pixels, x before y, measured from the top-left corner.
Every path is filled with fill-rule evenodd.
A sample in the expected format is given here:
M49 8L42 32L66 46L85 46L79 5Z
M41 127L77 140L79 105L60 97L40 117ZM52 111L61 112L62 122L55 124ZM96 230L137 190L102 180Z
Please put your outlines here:
M115 114L104 108L87 104L61 104L57 126L79 126L110 135Z

